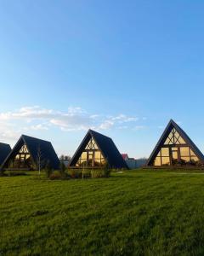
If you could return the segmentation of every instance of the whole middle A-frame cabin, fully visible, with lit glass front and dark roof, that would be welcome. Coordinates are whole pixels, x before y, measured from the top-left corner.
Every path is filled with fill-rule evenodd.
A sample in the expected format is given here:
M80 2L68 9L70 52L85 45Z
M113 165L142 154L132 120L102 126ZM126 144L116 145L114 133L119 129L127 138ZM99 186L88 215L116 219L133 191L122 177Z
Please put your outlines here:
M108 164L111 168L128 169L111 137L88 130L87 135L72 157L69 167L103 168L105 164Z

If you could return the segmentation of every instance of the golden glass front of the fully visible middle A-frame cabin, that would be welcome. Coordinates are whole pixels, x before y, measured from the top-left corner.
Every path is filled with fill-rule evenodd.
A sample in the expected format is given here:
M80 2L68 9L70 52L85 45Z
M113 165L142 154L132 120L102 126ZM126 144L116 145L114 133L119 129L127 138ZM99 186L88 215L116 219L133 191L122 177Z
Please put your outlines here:
M77 160L77 167L102 167L105 166L105 157L99 150L99 147L94 142L94 138L91 138L83 150L79 160Z

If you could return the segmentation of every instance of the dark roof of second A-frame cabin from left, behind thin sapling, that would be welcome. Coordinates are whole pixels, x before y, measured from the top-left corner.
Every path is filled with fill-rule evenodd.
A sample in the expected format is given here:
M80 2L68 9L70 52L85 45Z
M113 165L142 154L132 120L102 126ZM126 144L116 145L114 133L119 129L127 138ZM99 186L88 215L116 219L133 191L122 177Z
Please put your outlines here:
M24 144L26 144L26 147L29 153L31 154L31 159L35 164L37 163L37 154L40 148L43 163L46 164L49 161L52 168L59 169L59 158L54 151L52 143L38 139L36 137L30 137L26 135L22 135L20 137L20 139L15 144L12 151L8 154L7 158L3 161L3 165L1 166L1 169L3 169L4 166L6 166L6 164L8 163L8 160L11 157L13 157L14 154L16 154L16 152L18 152Z

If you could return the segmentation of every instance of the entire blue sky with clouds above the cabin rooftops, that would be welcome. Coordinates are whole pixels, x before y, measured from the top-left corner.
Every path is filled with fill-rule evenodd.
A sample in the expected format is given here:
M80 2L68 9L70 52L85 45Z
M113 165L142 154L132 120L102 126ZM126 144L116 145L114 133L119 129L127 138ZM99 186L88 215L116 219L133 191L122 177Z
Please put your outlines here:
M0 1L0 140L72 155L88 128L149 156L169 119L204 152L203 1Z

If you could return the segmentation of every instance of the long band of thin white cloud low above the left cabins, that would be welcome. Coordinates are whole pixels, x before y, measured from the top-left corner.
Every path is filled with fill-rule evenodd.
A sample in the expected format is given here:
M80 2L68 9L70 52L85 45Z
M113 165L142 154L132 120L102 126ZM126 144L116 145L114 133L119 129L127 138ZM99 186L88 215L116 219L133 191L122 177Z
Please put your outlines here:
M80 107L70 107L62 112L40 106L26 106L14 112L0 113L0 137L16 138L23 131L48 131L52 127L61 131L124 129L138 120L138 117L123 113L116 116L88 113Z

